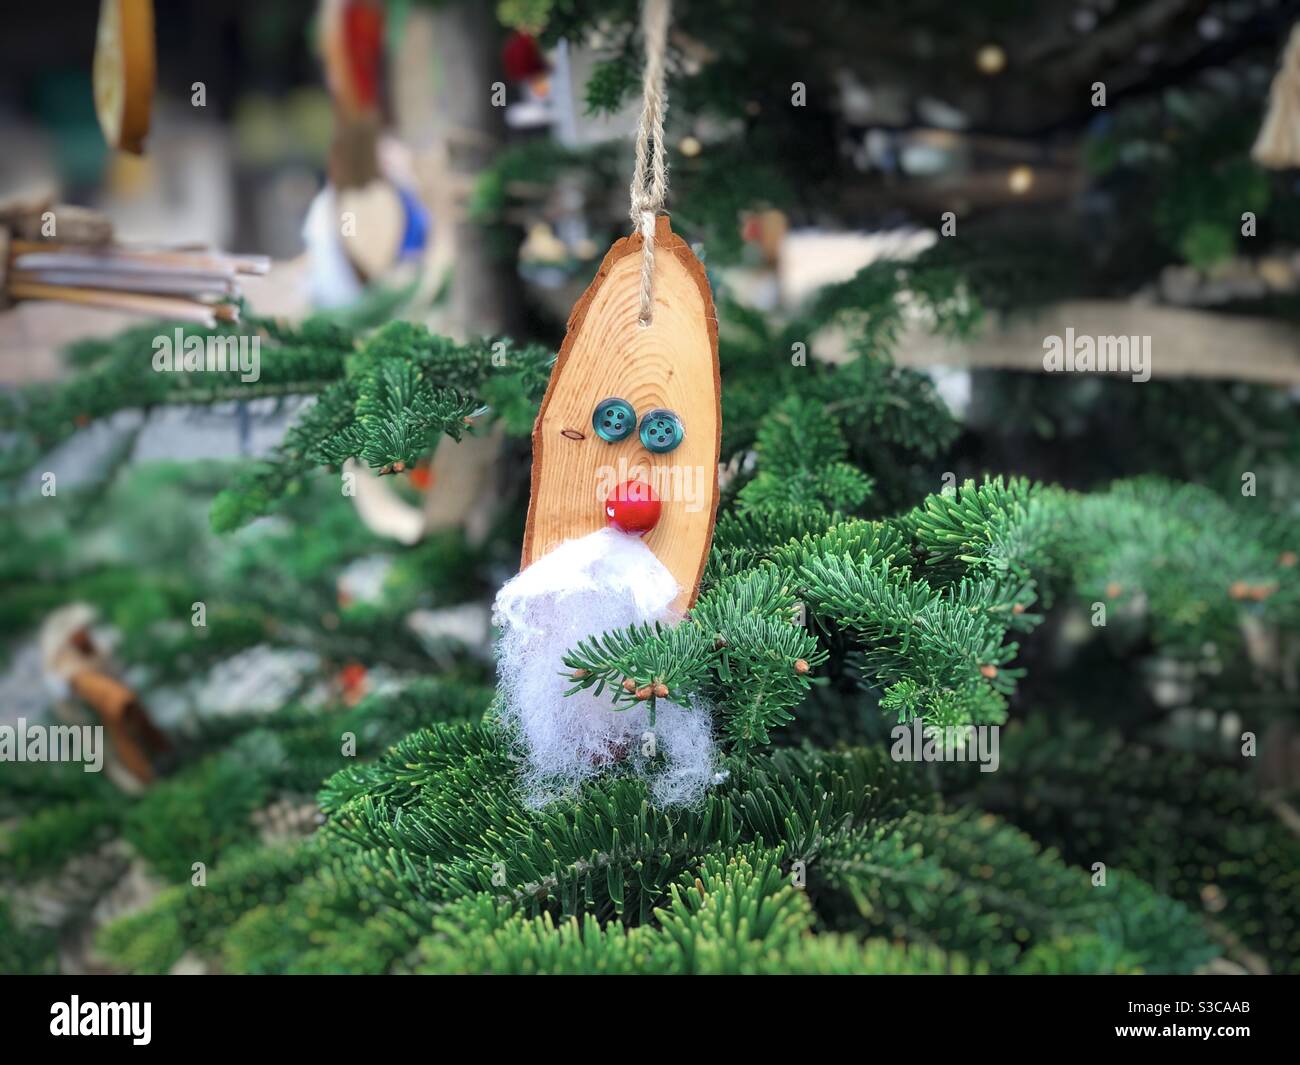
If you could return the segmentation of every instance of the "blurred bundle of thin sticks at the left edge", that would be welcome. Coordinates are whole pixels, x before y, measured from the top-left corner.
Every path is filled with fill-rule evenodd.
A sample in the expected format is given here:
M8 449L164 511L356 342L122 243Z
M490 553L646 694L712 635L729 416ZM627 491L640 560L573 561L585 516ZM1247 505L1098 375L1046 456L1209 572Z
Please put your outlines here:
M270 268L260 255L116 244L107 239L107 220L83 217L95 212L82 208L53 208L69 222L78 213L66 226L72 239L42 239L32 233L35 211L27 205L20 217L0 218L0 306L53 299L214 328L239 320L239 276Z

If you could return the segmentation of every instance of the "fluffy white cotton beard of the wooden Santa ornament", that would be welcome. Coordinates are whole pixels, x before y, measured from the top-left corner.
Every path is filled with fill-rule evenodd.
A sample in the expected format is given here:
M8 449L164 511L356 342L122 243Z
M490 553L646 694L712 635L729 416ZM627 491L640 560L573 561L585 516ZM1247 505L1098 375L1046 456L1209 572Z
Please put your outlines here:
M698 801L712 780L708 710L655 700L618 710L610 693L575 692L564 655L578 641L644 622L675 622L677 583L640 537L601 529L537 559L497 594L500 718L524 756L528 804L573 795L584 780L630 766L660 806ZM655 758L642 749L654 733Z

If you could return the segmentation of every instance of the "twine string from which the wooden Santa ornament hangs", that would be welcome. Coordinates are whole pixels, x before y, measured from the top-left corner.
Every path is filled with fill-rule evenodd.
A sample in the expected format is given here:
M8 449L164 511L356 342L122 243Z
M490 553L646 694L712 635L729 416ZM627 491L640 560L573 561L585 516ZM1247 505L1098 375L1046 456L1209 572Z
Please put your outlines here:
M637 163L632 174L632 225L641 233L641 313L654 320L654 226L668 196L668 160L663 150L663 116L668 98L663 88L664 52L671 0L644 0L641 34L646 66L641 81L641 122L637 126Z

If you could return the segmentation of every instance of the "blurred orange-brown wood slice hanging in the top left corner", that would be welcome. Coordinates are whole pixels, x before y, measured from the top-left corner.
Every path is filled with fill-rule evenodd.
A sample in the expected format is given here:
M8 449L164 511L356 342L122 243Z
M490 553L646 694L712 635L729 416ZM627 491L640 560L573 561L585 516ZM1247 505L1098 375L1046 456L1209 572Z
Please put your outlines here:
M95 113L110 148L140 155L155 79L153 0L103 0L95 38Z

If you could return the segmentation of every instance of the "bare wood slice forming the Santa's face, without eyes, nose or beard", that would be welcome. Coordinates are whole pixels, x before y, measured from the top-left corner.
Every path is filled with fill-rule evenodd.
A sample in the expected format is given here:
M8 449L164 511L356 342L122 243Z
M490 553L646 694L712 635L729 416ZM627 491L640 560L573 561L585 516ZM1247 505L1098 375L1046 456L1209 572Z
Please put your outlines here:
M663 503L644 541L676 577L681 592L673 606L684 611L696 599L718 510L718 319L703 264L660 216L654 315L642 325L641 252L640 234L615 243L569 315L533 427L523 567L566 540L604 528L606 495L641 480ZM676 412L685 429L681 443L655 454L637 432L615 443L597 436L593 412L612 397L627 401L638 421L656 408Z

